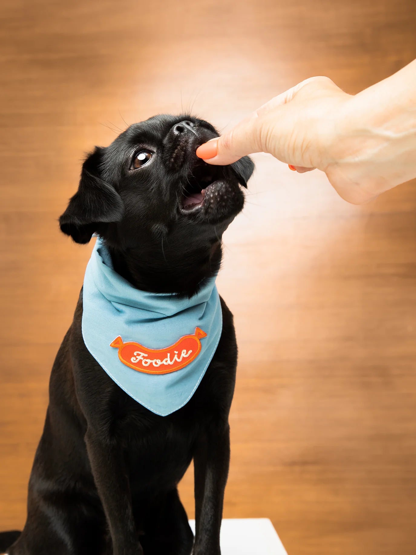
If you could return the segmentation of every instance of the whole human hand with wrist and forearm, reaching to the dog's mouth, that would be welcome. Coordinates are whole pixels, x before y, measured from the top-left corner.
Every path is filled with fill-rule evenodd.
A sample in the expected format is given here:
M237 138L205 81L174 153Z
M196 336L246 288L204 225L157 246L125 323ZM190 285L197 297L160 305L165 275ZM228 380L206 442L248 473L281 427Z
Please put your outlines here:
M414 64L355 96L327 77L306 79L196 154L223 165L267 152L300 173L324 171L342 198L364 203L416 175L413 104L399 96Z

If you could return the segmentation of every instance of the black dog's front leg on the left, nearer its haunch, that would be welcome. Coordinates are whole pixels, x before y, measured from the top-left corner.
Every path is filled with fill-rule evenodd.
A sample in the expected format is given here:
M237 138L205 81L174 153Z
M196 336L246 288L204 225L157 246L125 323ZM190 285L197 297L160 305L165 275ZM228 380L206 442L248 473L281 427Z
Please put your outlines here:
M143 555L131 507L129 477L117 446L88 429L88 457L113 540L113 555Z

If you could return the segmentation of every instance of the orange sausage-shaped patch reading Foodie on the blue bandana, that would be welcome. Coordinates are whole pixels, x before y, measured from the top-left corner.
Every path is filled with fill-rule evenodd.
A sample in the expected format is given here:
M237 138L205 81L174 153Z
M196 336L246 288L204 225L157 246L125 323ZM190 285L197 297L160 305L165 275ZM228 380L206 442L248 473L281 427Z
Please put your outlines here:
M169 374L196 359L201 351L200 339L203 337L206 337L205 331L196 327L194 335L184 335L165 349L148 349L135 341L123 343L120 336L110 343L110 347L118 349L121 362L133 370L145 374Z

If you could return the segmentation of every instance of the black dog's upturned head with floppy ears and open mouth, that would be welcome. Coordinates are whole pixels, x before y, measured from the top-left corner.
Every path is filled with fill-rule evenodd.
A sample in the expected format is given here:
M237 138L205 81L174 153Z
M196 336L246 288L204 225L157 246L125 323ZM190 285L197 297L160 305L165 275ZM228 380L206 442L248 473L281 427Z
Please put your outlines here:
M209 165L196 148L218 137L189 115L158 115L131 125L85 160L77 193L60 216L60 229L77 243L93 233L110 248L140 250L153 259L192 258L217 243L244 204L254 165L245 157ZM182 267L184 265L182 264Z

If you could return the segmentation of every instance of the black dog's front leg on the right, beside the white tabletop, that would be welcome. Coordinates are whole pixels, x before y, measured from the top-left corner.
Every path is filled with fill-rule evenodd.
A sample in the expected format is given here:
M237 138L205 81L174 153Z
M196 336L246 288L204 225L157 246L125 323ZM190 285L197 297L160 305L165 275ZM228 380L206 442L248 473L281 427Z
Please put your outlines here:
M194 555L221 555L220 528L230 466L230 427L217 423L200 438L194 454Z

